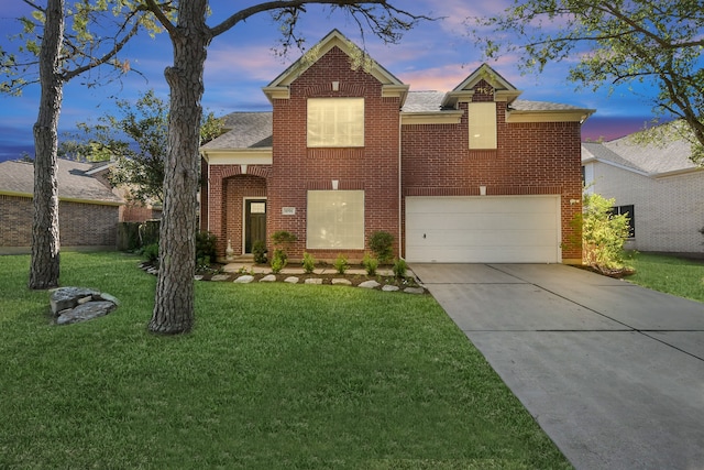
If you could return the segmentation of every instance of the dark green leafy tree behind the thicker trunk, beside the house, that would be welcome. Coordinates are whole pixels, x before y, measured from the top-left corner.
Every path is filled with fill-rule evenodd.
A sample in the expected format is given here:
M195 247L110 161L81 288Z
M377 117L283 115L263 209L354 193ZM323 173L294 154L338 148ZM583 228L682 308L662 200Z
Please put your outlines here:
M78 123L79 133L63 141L59 154L74 160L112 161L109 179L130 188L128 197L143 204L164 200L168 103L148 90L135 101L117 99L117 114L107 113L97 123ZM200 124L201 144L223 131L212 112Z

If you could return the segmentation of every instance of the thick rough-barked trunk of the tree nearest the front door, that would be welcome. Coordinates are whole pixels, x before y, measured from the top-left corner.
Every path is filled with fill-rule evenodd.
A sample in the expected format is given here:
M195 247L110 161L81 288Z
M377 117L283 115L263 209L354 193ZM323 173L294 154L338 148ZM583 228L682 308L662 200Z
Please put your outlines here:
M206 0L178 2L178 28L169 31L174 65L164 75L170 87L160 271L150 321L153 332L187 332L195 320L194 274L198 212L198 143L204 66L211 36Z

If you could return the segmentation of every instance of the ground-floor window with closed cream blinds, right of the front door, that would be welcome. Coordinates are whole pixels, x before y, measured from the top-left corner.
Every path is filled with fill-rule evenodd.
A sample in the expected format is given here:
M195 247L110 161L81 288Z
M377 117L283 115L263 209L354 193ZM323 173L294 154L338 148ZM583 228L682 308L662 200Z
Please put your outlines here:
M309 249L364 249L364 192L309 190Z

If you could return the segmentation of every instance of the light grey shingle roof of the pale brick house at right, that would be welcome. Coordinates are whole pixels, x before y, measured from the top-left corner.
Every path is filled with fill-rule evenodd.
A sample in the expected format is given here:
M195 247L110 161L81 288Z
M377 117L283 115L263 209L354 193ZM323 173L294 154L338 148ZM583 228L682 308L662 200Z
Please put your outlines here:
M704 170L690 160L692 149L686 139L639 143L635 139L637 134L603 143L583 143L582 163L597 161L652 177Z

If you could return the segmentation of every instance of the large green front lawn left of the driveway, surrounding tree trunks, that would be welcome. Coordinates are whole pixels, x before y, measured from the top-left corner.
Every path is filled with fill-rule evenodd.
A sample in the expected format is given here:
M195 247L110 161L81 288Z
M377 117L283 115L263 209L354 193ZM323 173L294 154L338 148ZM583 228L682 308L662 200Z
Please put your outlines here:
M158 337L136 263L63 254L121 306L57 327L0 256L0 468L570 468L430 296L197 283L195 330Z

